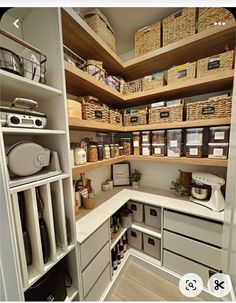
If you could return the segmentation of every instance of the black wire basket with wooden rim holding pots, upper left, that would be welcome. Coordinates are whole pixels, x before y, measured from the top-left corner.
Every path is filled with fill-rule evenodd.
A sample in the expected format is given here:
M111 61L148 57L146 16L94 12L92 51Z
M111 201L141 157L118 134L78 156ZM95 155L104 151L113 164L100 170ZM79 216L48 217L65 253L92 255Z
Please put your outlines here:
M24 49L16 54L10 49L0 48L0 69L45 84L47 56L31 44L19 39L11 33L0 29L1 35L19 44Z

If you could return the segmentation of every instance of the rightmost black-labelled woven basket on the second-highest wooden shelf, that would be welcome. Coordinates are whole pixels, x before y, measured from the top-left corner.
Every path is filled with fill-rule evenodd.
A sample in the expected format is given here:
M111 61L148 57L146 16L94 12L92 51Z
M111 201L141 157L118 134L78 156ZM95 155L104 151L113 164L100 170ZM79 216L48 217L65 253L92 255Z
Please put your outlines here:
M203 58L197 61L197 77L213 75L233 68L234 51Z

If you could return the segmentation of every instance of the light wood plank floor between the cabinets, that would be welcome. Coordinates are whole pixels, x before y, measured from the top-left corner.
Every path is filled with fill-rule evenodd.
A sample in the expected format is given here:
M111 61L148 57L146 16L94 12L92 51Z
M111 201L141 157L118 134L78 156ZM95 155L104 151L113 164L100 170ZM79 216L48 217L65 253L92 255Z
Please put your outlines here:
M105 301L202 301L199 297L185 297L178 286L148 271L135 261L129 261L120 275Z

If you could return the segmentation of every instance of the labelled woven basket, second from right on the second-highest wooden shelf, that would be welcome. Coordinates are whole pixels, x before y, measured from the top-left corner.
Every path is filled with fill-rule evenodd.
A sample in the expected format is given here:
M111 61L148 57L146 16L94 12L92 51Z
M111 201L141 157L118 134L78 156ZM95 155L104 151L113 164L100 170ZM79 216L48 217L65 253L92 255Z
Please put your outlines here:
M194 79L196 76L196 62L173 66L168 70L168 84Z

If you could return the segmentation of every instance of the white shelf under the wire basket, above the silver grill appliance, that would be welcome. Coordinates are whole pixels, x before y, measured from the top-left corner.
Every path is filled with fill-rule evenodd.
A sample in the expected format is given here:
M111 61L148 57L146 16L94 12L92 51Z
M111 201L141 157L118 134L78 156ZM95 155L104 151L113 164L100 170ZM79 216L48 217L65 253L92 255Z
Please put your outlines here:
M62 91L54 87L32 81L0 69L1 98L12 100L24 97L33 100L50 99L62 95Z

